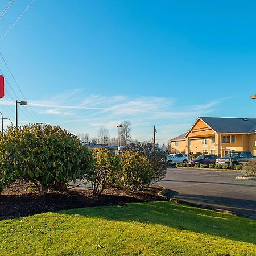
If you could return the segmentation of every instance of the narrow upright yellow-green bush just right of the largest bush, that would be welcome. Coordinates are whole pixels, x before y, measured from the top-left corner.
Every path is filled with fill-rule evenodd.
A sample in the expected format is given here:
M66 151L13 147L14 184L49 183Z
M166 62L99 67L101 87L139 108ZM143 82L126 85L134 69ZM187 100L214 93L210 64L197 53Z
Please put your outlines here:
M120 166L118 158L104 148L96 148L92 152L94 167L89 180L94 195L100 195L105 187L114 181L114 174Z

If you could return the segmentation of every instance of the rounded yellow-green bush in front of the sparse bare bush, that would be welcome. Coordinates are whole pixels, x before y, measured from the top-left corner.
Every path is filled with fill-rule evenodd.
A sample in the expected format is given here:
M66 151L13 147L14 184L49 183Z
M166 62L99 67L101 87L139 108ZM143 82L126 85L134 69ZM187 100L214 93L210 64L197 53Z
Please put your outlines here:
M121 170L117 172L117 183L125 189L138 190L147 187L154 177L150 161L139 152L126 150L120 155Z

